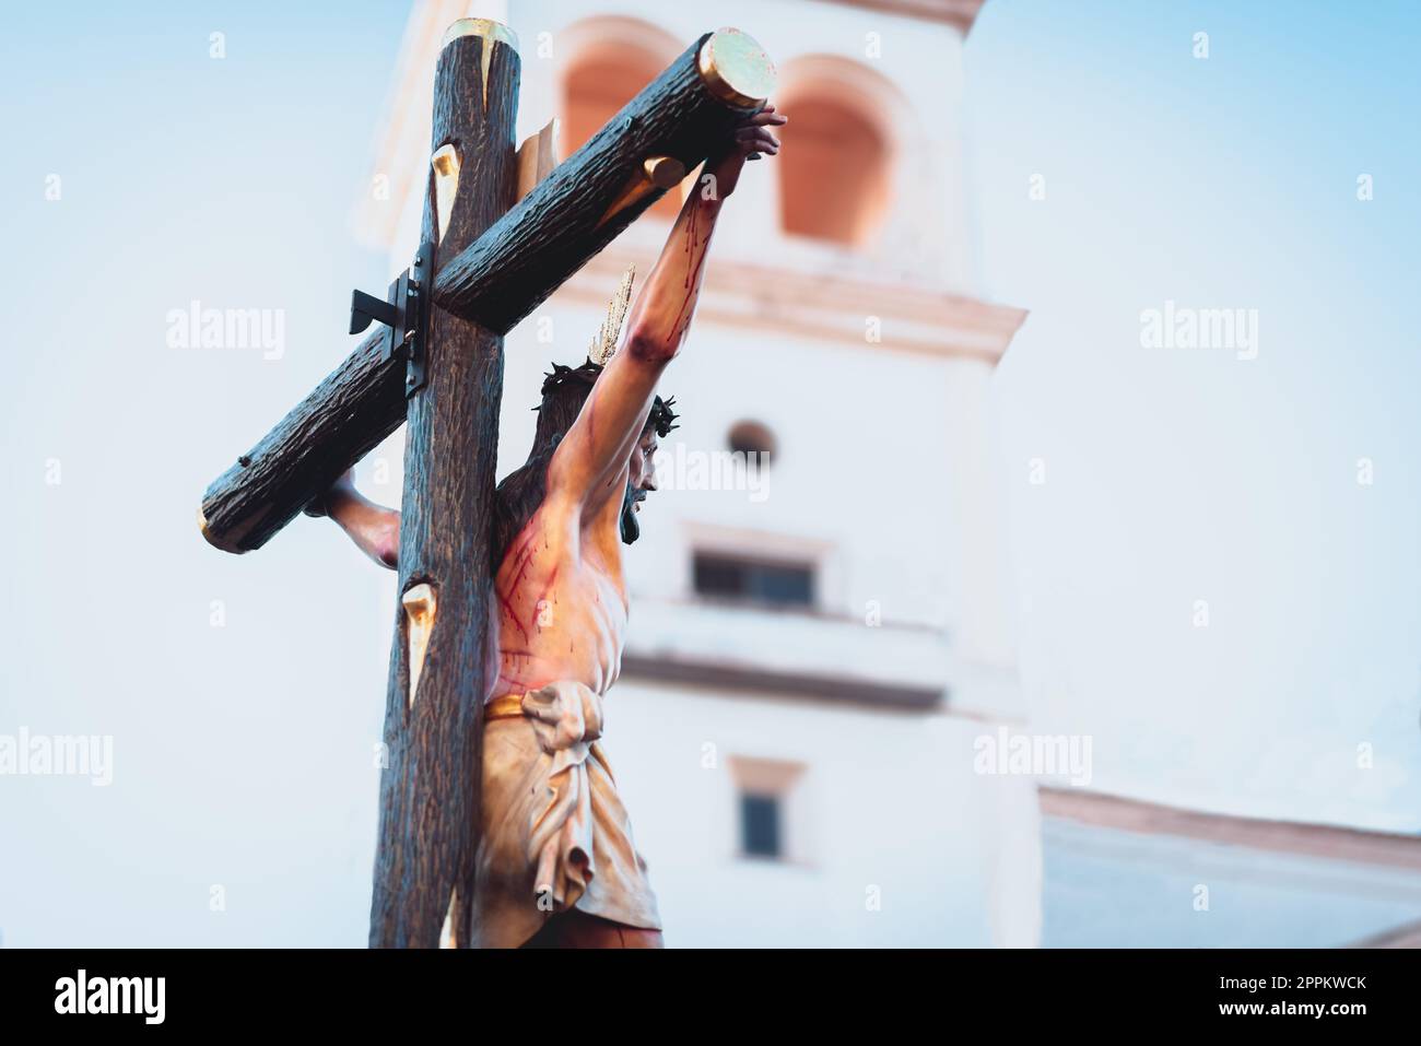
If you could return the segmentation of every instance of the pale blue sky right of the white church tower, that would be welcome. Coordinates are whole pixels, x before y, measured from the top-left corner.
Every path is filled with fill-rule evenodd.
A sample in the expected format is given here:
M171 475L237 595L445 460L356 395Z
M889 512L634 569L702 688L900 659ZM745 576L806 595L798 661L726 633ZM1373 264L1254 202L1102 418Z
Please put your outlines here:
M1032 310L1023 672L1098 787L1415 830L1421 13L1283 7L993 0L969 38L982 274ZM1256 310L1258 357L1142 348L1165 301Z

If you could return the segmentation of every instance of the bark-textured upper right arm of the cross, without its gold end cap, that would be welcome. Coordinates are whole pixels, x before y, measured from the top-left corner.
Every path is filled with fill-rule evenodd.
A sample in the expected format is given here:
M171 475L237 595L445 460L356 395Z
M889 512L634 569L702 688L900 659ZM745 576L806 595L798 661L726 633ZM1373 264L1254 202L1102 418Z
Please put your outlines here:
M654 188L608 220L608 209L641 176L649 156L699 165L752 109L715 97L696 68L705 38L537 185L435 281L435 301L506 333L557 290L638 215L661 199Z

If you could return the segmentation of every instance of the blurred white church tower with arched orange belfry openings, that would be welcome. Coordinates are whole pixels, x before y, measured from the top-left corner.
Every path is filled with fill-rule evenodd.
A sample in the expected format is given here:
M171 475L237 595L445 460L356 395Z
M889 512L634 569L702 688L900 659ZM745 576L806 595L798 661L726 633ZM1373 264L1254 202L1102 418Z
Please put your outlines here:
M973 283L963 173L980 6L426 0L411 16L360 206L391 271L418 239L453 20L517 33L519 139L558 118L560 155L719 26L779 68L784 148L722 212L664 381L682 428L627 550L631 634L607 701L671 947L1039 942L1034 782L973 772L975 742L1025 718L988 414L1025 313ZM543 372L581 362L679 199L509 334L500 476L531 443ZM377 496L398 496L399 439L374 455L391 473ZM732 451L769 463L726 469Z

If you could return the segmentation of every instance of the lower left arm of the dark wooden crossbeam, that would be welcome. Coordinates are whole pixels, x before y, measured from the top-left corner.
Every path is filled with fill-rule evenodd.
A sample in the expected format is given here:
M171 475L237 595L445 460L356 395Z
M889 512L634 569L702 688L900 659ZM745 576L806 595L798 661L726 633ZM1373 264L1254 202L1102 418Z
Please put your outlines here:
M387 328L212 482L203 536L223 551L260 549L405 419L405 361L382 358Z

